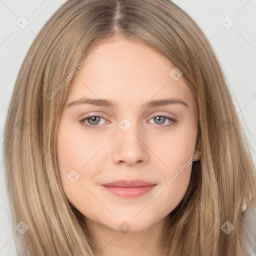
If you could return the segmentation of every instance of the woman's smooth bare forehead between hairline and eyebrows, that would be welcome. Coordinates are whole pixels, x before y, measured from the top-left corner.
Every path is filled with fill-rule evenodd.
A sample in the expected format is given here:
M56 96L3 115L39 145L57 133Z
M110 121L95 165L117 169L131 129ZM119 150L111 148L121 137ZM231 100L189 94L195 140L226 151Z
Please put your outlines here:
M126 100L175 97L192 104L183 77L174 80L170 75L175 65L147 44L115 36L95 44L91 52L95 48L98 53L73 77L67 101L81 96L109 98L118 106Z

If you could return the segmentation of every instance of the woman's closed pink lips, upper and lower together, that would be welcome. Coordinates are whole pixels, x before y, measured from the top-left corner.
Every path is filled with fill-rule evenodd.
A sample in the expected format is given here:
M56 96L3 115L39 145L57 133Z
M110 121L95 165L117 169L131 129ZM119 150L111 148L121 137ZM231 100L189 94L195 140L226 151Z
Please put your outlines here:
M156 184L152 184L140 179L125 180L119 179L113 182L101 184L107 191L126 198L141 196L153 189Z

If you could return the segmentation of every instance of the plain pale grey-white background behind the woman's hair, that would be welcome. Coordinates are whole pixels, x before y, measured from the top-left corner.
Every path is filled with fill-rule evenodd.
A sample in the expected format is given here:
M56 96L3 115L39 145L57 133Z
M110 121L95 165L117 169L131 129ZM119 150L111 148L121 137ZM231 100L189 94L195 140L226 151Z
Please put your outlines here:
M141 0L142 1L142 0ZM2 160L3 125L18 70L35 34L63 0L0 0L0 256L14 256ZM256 0L174 0L201 27L220 61L256 163ZM29 24L20 29L16 20ZM234 24L220 23L228 15ZM226 20L226 21L225 21ZM224 19L226 25L229 19ZM16 223L17 224L17 223Z

